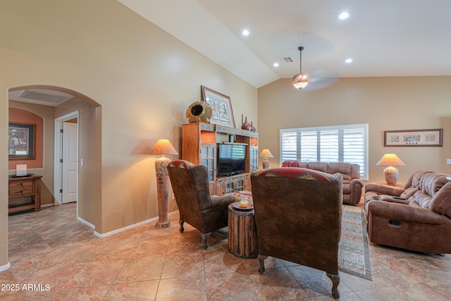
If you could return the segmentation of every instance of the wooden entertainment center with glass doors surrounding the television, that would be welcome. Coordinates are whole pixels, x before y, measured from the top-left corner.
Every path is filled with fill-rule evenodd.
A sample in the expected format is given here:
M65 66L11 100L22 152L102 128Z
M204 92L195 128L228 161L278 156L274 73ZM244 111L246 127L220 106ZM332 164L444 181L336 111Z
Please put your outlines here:
M250 130L207 123L183 125L182 159L208 170L211 195L250 190L250 172L258 167L259 134ZM217 175L218 144L245 145L245 170L233 176Z

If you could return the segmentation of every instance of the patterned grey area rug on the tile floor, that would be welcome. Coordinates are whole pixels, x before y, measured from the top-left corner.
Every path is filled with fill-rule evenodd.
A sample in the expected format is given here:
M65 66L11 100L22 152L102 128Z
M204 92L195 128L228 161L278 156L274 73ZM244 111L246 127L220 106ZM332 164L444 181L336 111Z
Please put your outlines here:
M343 205L338 269L347 274L373 280L365 214L359 207Z

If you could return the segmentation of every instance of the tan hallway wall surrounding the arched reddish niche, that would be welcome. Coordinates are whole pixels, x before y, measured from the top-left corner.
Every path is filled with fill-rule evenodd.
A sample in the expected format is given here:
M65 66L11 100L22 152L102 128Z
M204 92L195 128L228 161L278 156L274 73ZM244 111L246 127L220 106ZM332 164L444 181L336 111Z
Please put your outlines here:
M54 203L54 133L55 133L55 108L40 104L28 104L26 102L9 101L10 108L23 109L35 113L44 120L44 159L42 168L30 168L31 173L42 176L41 181L41 206ZM15 174L9 171L8 174Z

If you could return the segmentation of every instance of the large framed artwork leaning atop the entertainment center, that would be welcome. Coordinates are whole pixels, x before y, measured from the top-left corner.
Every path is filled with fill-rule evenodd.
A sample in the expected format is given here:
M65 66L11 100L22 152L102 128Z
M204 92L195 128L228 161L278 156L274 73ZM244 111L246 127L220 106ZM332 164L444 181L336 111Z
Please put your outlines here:
M235 119L233 118L230 97L207 87L200 87L202 90L202 100L209 103L211 110L213 111L210 123L235 128Z

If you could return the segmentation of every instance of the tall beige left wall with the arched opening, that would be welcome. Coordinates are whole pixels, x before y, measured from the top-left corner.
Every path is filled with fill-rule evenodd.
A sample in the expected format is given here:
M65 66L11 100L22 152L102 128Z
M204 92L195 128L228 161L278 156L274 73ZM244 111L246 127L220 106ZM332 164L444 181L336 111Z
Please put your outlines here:
M244 113L258 128L255 87L117 1L0 0L0 6L0 139L6 141L8 89L51 85L97 102L101 192L87 188L83 195L97 208L88 219L99 233L158 216L157 156L144 153L160 138L181 151L185 111L200 99L200 85L230 96L238 126ZM0 147L0 156L6 171L6 147ZM91 168L96 164L83 170ZM0 266L7 263L6 185L5 172ZM175 209L173 200L170 208Z

